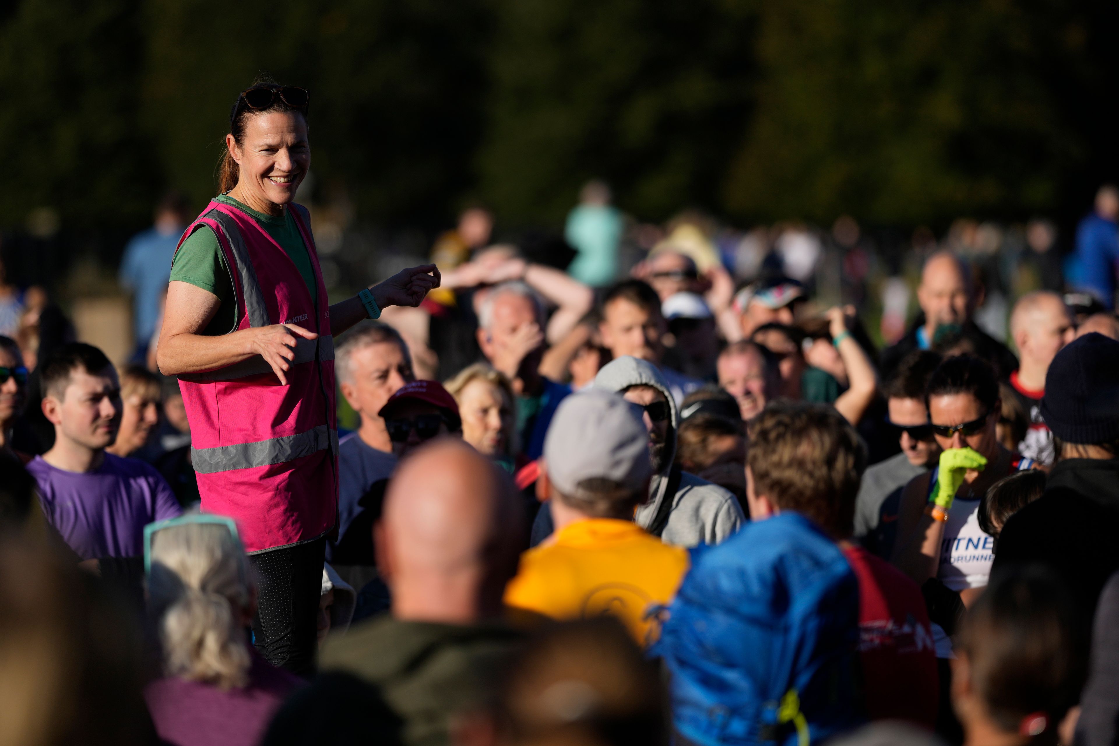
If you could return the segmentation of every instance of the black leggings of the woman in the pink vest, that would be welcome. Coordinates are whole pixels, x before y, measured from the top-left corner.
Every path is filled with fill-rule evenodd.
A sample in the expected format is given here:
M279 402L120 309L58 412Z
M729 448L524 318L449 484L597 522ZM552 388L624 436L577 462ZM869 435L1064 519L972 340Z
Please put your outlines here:
M318 649L326 539L272 549L248 559L256 573L253 643L270 663L309 678Z

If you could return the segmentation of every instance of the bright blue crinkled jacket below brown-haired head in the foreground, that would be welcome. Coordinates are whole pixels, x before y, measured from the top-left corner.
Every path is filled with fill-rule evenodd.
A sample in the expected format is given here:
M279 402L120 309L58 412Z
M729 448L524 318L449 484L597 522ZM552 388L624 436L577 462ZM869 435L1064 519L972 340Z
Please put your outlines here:
M782 513L694 553L651 654L671 672L685 738L803 746L864 719L857 643L850 566L811 521Z

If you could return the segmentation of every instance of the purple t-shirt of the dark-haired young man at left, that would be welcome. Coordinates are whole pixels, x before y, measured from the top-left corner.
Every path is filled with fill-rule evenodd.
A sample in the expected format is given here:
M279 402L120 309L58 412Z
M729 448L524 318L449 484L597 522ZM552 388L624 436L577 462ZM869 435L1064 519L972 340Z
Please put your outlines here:
M143 527L182 514L154 468L111 453L96 471L69 472L36 456L27 471L39 483L47 520L82 559L143 556Z

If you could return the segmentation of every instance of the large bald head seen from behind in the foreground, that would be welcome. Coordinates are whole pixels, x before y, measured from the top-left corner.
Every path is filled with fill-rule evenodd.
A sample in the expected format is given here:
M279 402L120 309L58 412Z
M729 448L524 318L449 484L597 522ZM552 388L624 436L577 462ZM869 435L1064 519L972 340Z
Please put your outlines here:
M450 624L499 616L521 516L508 479L462 441L432 441L401 464L377 526L393 615Z

